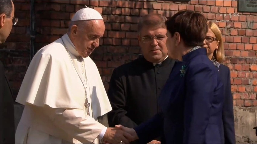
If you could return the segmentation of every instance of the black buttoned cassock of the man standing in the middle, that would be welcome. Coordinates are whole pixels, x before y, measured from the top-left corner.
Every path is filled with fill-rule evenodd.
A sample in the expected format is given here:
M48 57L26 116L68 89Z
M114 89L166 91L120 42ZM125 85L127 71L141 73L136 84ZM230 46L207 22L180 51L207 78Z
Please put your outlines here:
M154 66L140 57L114 69L108 90L113 108L108 113L109 127L121 124L134 128L160 112L157 98L174 62L166 58Z

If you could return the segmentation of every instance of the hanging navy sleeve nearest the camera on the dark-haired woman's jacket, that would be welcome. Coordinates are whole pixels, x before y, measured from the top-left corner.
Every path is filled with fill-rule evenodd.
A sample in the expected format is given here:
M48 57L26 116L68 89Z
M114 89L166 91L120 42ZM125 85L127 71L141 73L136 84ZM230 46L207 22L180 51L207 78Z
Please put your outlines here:
M216 86L217 73L207 64L189 68L184 103L183 143L205 143L205 130Z

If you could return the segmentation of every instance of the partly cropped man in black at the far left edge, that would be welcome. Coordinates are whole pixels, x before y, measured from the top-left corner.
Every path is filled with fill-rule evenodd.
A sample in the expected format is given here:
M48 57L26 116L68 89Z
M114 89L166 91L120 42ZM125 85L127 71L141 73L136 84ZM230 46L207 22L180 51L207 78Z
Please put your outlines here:
M12 1L0 1L0 44L5 43L12 26L17 23L14 18ZM14 99L0 61L0 143L14 143Z

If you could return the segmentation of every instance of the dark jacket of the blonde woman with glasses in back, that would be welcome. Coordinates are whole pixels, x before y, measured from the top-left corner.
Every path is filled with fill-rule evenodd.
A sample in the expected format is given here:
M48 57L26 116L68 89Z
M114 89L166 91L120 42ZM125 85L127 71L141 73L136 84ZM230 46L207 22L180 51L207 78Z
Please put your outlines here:
M233 111L233 96L230 84L230 70L227 66L220 64L219 73L224 84L224 105L222 110L223 122L223 141L224 143L236 143L235 126L234 126L234 111Z

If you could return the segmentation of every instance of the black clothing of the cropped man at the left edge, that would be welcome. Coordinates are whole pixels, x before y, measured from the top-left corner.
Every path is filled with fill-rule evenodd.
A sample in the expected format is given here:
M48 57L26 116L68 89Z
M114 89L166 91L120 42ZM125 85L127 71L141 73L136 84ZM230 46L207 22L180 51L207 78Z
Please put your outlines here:
M14 99L0 61L0 143L15 143Z

